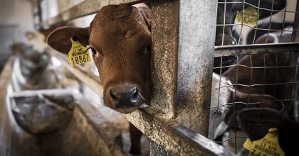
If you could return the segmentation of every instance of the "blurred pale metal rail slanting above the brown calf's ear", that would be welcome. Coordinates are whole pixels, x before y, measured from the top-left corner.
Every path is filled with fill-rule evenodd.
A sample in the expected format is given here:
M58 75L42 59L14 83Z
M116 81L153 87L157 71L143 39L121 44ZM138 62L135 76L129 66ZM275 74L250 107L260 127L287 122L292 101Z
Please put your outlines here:
M75 18L97 13L103 6L107 6L109 4L137 4L141 2L142 0L85 0L66 11L63 11L62 13L59 13L55 17L43 21L42 25L51 26L57 23L62 23Z

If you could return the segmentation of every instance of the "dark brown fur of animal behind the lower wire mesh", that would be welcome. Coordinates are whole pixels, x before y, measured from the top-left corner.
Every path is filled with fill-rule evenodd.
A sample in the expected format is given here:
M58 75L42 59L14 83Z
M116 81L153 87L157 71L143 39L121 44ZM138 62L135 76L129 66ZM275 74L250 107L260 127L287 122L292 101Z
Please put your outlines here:
M268 94L276 97L277 99L284 99L285 94L283 91L285 85L275 85L275 83L288 82L288 67L279 67L279 66L288 66L289 64L289 52L278 53L277 62L275 53L267 54L257 54L257 55L246 55L241 57L238 61L238 66L229 68L224 72L223 76L231 80L232 84L238 82L238 84L274 84L266 85L264 89L262 86L256 87L243 87L238 85L238 91L241 91L246 94ZM271 68L256 68L252 69L251 75L251 60L252 67L271 67ZM243 67L245 65L248 67ZM279 67L276 70L276 65ZM238 71L238 75L237 75ZM265 75L265 79L263 79ZM251 79L252 77L252 79ZM277 77L277 79L276 79Z

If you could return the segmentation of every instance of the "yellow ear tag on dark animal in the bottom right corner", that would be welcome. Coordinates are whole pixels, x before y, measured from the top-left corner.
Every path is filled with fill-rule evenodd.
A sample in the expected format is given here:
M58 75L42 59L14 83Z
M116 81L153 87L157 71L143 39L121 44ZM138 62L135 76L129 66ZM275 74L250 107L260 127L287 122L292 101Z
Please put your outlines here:
M249 139L243 144L247 150L249 150L249 155L258 156L284 156L285 152L281 150L278 143L278 129L270 128L267 135L260 140L251 141Z

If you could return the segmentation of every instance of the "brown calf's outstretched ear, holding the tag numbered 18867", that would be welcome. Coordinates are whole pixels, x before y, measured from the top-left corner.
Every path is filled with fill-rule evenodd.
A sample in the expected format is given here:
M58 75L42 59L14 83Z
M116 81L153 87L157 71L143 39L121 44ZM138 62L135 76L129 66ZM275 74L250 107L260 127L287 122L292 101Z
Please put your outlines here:
M58 52L68 54L72 46L70 38L73 36L75 36L83 46L88 45L89 27L76 28L64 26L61 28L56 28L56 30L53 30L53 32L48 35L47 43L51 46L51 48L57 50Z

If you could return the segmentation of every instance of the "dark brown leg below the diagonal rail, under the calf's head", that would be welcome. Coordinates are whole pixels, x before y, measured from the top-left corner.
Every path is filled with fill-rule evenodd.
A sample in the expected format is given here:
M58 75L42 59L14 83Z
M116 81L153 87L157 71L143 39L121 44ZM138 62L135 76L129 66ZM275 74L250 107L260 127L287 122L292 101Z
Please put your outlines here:
M132 155L140 155L140 139L142 133L132 123L130 123L130 138L131 138L131 150Z

